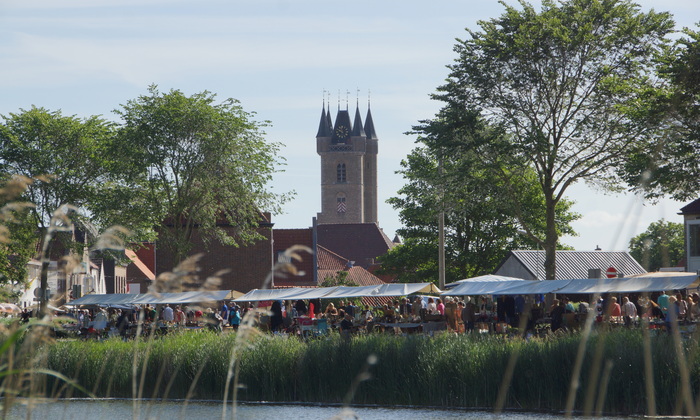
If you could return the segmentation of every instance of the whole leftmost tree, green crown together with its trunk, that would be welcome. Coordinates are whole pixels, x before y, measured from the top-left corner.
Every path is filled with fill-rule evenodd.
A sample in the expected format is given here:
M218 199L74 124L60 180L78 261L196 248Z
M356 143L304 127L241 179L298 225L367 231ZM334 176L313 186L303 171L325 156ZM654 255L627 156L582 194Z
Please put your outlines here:
M106 179L106 149L113 139L114 126L101 117L64 116L61 111L32 107L3 116L0 125L0 169L7 178L32 180L26 183L22 200L33 204L30 214L21 215L24 223L12 225L12 240L5 250L12 264L26 266L34 254L28 232L41 244L42 270L40 287L48 289L49 257L58 230L72 229L72 219L87 221L88 205ZM71 216L58 209L70 208ZM74 211L76 210L76 211ZM29 227L26 223L35 223ZM87 223L84 223L87 225ZM96 235L94 235L96 236ZM61 236L61 254L72 243L70 235ZM31 248L30 248L31 247ZM55 254L55 255L61 255ZM17 283L25 275L21 268L9 273ZM40 312L46 313L46 296Z

